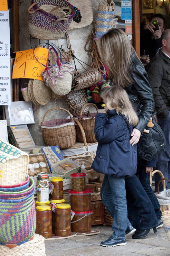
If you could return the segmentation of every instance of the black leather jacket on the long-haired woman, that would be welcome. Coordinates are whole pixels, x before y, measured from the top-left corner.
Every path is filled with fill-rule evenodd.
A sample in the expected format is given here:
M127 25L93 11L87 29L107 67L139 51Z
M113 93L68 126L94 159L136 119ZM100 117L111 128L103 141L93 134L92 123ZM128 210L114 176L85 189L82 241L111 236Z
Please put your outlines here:
M135 52L132 52L131 60L134 83L124 89L139 117L139 123L135 128L143 132L154 110L154 100L147 72Z

